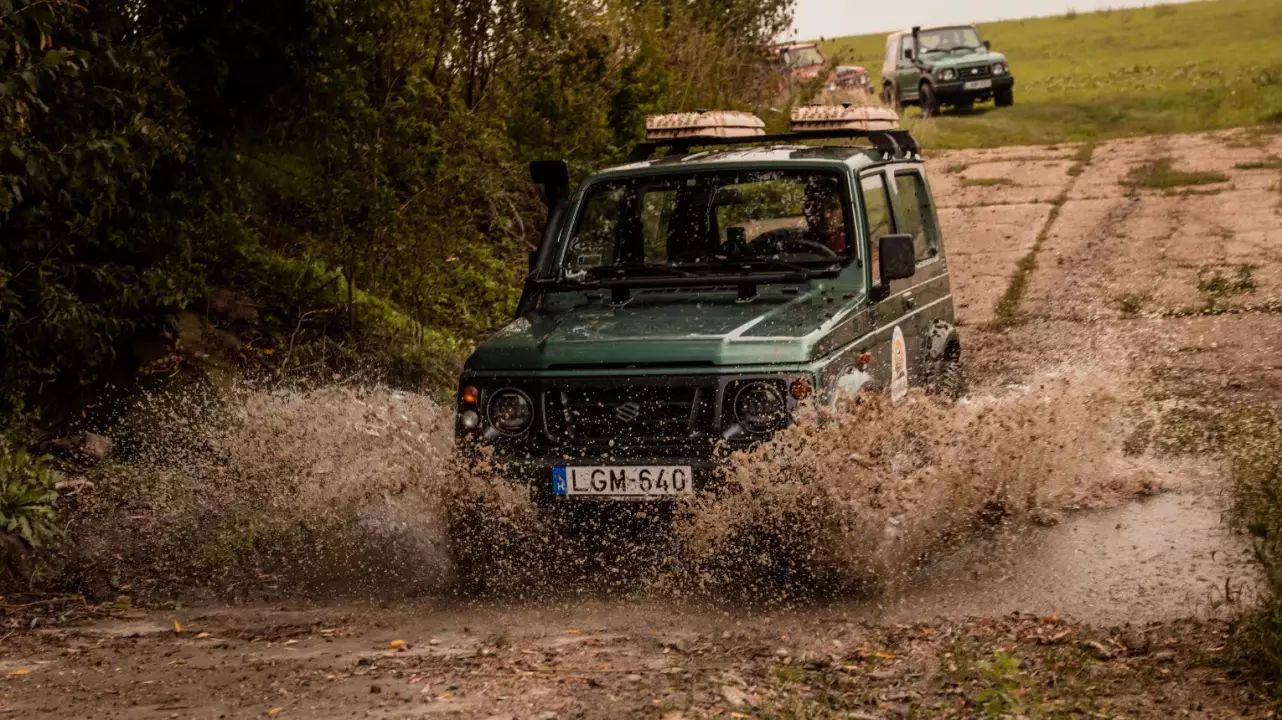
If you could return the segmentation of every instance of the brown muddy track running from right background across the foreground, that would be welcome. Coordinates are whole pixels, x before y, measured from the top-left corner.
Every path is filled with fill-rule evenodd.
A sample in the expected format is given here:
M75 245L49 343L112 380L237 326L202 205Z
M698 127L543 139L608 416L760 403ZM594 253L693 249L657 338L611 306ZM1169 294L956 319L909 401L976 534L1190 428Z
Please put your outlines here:
M1256 575L1223 523L1220 452L1235 416L1282 398L1282 177L1238 168L1269 155L1282 136L1232 131L929 158L972 393L1074 365L1138 387L1117 401L1142 419L1118 452L1158 480L963 538L876 597L777 612L49 598L6 610L0 714L1263 716L1223 657ZM1228 179L1129 184L1160 156ZM68 620L36 614L53 609Z

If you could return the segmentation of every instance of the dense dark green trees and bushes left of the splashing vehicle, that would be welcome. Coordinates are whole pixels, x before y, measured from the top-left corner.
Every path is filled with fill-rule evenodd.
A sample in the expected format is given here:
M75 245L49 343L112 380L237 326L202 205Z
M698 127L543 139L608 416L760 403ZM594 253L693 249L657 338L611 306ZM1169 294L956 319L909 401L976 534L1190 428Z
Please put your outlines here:
M791 4L0 0L0 423L223 291L286 366L451 374L514 310L526 163L763 104Z

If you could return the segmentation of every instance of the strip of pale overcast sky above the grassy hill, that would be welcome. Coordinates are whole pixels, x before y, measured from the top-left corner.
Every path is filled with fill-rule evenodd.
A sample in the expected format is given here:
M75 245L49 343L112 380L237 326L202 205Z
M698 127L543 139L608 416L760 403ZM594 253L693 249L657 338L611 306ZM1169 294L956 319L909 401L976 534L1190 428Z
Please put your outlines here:
M908 29L914 24L982 23L1011 18L1138 8L1153 0L797 0L797 40Z

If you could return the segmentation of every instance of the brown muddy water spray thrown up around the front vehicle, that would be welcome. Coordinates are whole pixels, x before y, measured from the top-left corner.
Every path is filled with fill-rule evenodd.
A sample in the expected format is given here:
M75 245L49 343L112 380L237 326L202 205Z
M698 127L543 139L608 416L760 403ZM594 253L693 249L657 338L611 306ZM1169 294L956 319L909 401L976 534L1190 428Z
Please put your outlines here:
M1124 389L1085 370L956 404L864 397L731 459L670 516L567 516L465 470L449 409L386 388L156 397L73 498L67 584L282 596L612 593L773 605L896 585L996 516L1047 523L1164 484ZM567 538L570 538L567 541Z

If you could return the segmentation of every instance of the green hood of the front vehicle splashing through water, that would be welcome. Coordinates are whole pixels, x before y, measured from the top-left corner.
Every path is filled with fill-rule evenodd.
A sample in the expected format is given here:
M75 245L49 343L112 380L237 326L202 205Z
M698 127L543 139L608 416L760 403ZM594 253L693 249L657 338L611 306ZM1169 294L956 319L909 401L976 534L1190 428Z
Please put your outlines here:
M586 293L550 299L481 345L469 370L555 370L627 365L805 363L858 300L831 290L633 292L623 307Z

